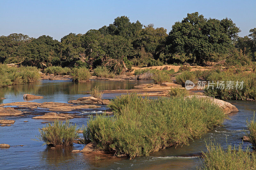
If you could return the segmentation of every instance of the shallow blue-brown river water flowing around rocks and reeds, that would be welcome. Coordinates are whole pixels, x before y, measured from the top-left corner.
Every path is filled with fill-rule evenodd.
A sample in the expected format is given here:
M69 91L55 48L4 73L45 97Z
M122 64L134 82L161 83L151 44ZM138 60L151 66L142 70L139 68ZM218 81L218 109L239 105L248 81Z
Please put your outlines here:
M89 96L87 92L96 86L101 90L131 89L135 85L152 83L152 81L105 81L97 80L86 83L74 83L71 81L43 80L34 84L15 85L0 89L0 103L24 101L23 94L29 93L44 96L43 99L33 102L65 102L79 97ZM103 98L112 99L119 93L104 94ZM45 120L31 119L35 115L47 113L45 109L30 111L24 116L2 117L16 122L12 126L0 126L0 144L10 144L7 149L0 148L0 169L196 169L201 166L200 158L194 155L206 151L205 140L215 140L226 147L228 144L240 144L241 137L246 135L246 119L250 120L256 110L255 101L229 101L235 105L239 112L231 113L224 122L223 127L217 127L209 131L204 137L190 141L189 145L167 148L150 154L148 157L104 158L94 160L84 153L72 153L72 150L81 150L84 145L74 144L72 147L51 149L42 145L42 142L32 140L39 135L38 129L45 126L41 122ZM78 127L86 126L89 115L102 113L108 110L105 106L97 109L83 109L68 113L84 115L83 118L74 118L70 122ZM61 113L61 112L58 112ZM28 122L23 122L28 121ZM82 134L80 134L82 136ZM16 146L24 145L24 146ZM244 142L244 147L249 145Z

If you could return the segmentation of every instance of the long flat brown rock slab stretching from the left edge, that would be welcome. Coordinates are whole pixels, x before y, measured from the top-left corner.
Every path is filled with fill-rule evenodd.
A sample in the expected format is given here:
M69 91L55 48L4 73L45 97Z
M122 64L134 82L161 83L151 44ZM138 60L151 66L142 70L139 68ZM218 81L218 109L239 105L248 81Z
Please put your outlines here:
M36 102L27 102L27 101L5 103L2 105L3 106L28 107L31 109L36 109L37 107L43 107L43 108L48 108L49 111L72 111L72 110L76 110L76 109L100 107L100 106L96 106L96 105L74 105L74 104L70 104L70 103L59 103L59 102L36 103ZM0 116L1 116L1 108L3 108L3 107L0 107ZM12 107L6 107L6 108L12 108ZM12 111L18 111L18 110L15 110L13 108ZM20 115L21 114L22 114L22 112L20 113Z

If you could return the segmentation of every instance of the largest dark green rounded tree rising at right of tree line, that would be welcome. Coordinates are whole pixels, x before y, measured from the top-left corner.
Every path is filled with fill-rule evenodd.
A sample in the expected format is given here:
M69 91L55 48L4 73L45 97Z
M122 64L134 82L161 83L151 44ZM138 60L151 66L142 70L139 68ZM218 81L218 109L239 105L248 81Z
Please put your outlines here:
M207 19L198 12L188 13L186 18L172 26L165 52L167 55L192 54L197 62L203 64L214 53L227 53L239 31L231 19Z

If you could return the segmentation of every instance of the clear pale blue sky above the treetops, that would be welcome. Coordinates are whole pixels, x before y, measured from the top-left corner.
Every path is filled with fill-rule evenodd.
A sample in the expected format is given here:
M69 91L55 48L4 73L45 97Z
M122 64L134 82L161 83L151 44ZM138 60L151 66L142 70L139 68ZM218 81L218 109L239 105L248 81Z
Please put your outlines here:
M167 33L187 13L199 12L205 18L231 18L240 27L240 36L256 27L256 0L91 0L91 1L13 1L0 0L0 35L23 33L30 37L49 35L60 40L69 33L86 33L127 16L144 25L153 23Z

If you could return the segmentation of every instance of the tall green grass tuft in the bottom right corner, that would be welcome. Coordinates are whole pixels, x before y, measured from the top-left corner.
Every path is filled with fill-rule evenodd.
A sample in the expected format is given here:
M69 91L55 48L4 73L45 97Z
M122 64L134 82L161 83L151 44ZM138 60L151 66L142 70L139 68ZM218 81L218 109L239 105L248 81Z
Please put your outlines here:
M244 151L242 145L228 145L225 151L219 144L206 144L207 151L203 152L203 167L199 169L256 169L256 153L249 148Z

